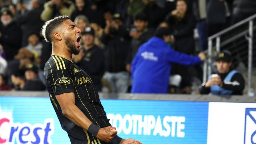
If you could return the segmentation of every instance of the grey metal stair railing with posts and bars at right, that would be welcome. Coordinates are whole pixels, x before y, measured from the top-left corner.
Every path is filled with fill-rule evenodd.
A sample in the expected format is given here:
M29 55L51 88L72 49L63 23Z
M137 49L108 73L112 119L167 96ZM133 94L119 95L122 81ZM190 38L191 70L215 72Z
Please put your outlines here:
M212 74L213 56L220 50L228 49L239 56L240 61L247 63L248 68L248 92L249 96L254 96L252 89L252 67L253 67L253 32L256 32L256 14L246 18L208 38L208 58L203 66L203 82ZM244 38L243 38L244 37ZM248 45L248 47L245 47ZM245 55L246 51L248 54ZM213 54L214 53L214 54ZM248 61L247 61L248 59ZM246 62L247 61L247 62ZM255 64L255 63L254 63Z

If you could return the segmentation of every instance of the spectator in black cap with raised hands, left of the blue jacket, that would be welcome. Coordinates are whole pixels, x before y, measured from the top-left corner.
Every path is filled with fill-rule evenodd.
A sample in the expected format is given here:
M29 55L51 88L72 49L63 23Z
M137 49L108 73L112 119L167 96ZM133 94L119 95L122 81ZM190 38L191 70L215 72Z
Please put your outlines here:
M150 39L154 35L154 31L151 29L148 29L148 19L147 15L140 13L136 15L134 18L134 26L130 30L130 36L132 36L132 42L131 42L131 50L128 53L127 59L126 59L126 70L128 72L131 72L131 62L134 58L134 55L136 54L139 46L147 42L148 39Z

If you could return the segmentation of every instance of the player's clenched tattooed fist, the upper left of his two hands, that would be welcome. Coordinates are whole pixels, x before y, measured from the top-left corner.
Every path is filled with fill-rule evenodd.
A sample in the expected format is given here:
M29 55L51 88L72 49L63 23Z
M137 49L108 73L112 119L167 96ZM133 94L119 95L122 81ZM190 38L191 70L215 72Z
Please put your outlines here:
M100 128L97 134L97 138L102 141L110 142L117 134L116 128L112 126Z

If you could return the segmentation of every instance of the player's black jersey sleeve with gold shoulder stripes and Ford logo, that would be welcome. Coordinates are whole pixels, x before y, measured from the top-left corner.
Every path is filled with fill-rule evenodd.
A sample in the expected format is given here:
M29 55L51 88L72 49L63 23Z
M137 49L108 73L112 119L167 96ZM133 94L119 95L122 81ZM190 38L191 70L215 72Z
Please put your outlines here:
M55 61L55 60L56 61ZM54 95L74 92L74 83L70 66L61 57L54 57L52 63L48 61L46 83L51 87Z

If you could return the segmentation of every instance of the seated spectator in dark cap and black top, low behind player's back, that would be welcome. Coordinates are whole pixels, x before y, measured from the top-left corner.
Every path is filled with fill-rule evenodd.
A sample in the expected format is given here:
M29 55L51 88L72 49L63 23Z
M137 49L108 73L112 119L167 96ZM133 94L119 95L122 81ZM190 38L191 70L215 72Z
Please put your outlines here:
M27 65L25 78L22 90L45 90L45 85L38 78L38 68L35 65Z

